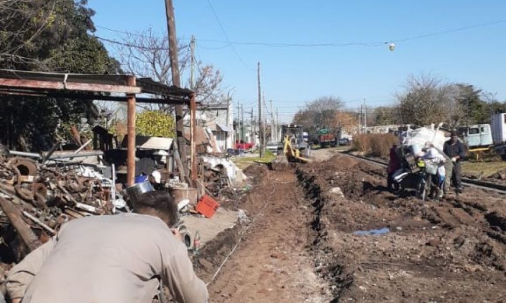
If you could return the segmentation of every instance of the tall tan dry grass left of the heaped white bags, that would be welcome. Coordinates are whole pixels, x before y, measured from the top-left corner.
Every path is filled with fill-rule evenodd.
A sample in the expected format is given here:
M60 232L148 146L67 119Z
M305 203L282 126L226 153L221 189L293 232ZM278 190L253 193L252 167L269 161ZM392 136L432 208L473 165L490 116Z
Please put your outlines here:
M388 157L390 148L399 140L393 134L361 134L353 136L353 149L366 156Z

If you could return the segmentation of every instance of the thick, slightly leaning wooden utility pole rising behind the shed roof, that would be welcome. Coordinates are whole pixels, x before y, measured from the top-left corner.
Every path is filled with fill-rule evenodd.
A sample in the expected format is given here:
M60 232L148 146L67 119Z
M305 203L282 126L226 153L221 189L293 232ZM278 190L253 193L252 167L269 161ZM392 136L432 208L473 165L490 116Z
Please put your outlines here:
M181 87L181 78L179 75L179 61L178 61L178 43L176 40L176 21L174 19L174 7L172 0L165 0L165 13L167 16L167 32L168 32L168 54L171 59L172 69L172 84ZM183 121L183 106L176 105L176 137L178 141L179 154L185 169L184 176L187 175L188 170L188 154L186 153L186 140L183 135L184 121Z

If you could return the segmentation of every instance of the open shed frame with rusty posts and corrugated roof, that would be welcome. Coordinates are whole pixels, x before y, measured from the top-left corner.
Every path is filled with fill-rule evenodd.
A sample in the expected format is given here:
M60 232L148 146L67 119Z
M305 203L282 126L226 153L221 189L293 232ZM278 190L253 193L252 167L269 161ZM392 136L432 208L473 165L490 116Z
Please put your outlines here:
M27 72L0 69L0 95L22 97L54 97L76 100L111 100L128 104L128 147L127 147L127 183L134 184L135 174L135 116L136 103L167 105L186 105L190 112L191 128L191 181L197 179L195 160L195 93L189 89L168 86L149 78L137 79L126 74L73 74ZM140 95L140 96L138 96ZM145 96L150 95L150 96ZM1 100L1 98L0 98ZM176 120L178 117L176 117ZM177 128L177 126L176 126ZM183 130L176 129L178 136ZM181 135L180 135L181 134ZM186 161L180 161L181 176L187 171ZM185 167L186 166L186 167Z

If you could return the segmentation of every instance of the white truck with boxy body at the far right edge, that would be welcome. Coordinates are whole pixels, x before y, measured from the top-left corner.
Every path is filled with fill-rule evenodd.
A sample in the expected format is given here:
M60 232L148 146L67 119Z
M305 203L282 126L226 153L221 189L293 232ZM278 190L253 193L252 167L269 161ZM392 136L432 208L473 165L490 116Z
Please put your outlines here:
M464 139L470 151L493 149L506 160L506 113L493 114L491 122L462 128Z

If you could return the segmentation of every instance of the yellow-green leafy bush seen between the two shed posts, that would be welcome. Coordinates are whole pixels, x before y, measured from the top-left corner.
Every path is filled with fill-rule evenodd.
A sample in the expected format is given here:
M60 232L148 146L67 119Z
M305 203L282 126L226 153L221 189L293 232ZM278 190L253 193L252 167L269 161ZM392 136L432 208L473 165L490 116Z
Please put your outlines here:
M161 111L143 111L137 115L135 129L138 135L174 138L176 122L172 115Z

